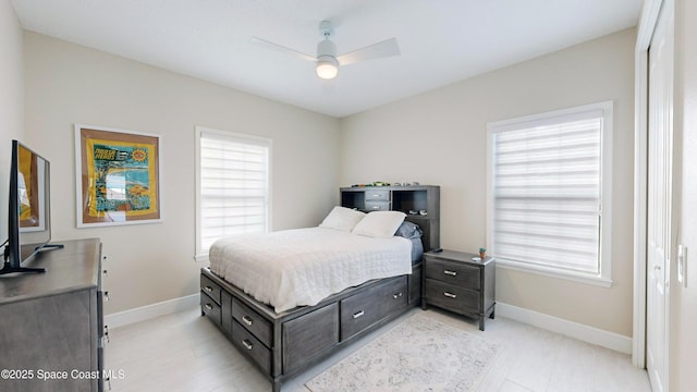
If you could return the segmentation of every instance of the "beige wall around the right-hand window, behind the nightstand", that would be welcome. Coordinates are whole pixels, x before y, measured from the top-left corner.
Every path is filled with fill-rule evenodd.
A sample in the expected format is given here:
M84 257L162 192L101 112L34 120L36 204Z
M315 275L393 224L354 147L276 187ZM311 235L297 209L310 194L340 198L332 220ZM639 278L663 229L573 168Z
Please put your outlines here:
M632 335L635 29L358 113L341 122L342 185L441 185L441 245L486 242L487 122L613 100L612 287L499 268L497 301Z

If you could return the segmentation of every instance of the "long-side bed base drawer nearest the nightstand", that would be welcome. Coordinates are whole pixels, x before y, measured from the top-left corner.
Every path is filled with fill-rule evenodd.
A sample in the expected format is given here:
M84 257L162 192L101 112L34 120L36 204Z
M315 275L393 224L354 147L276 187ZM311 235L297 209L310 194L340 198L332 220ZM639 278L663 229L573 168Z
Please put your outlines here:
M404 308L408 302L407 277L386 280L341 302L341 340L344 341Z

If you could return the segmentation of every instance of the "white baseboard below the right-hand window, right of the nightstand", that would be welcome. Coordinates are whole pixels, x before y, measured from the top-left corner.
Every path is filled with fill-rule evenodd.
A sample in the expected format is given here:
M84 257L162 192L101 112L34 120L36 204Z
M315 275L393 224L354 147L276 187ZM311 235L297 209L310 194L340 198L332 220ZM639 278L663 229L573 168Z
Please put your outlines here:
M632 354L632 338L619 333L588 327L522 307L502 304L500 302L497 302L496 315L620 353Z

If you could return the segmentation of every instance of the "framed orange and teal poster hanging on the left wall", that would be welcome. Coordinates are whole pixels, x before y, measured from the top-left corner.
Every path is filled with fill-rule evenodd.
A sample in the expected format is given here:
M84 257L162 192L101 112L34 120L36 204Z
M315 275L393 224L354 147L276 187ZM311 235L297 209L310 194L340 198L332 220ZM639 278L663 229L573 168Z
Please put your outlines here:
M159 135L75 124L77 228L162 221Z

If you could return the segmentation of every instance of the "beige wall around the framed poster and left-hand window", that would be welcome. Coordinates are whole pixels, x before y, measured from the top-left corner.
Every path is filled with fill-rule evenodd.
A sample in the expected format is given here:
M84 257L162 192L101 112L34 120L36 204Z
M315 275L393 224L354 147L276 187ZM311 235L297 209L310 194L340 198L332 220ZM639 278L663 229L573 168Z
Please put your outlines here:
M27 143L51 161L53 237L100 237L107 313L198 292L195 126L273 140L272 226L314 225L333 206L338 120L25 33ZM162 223L76 229L73 124L162 136Z

